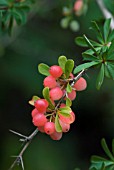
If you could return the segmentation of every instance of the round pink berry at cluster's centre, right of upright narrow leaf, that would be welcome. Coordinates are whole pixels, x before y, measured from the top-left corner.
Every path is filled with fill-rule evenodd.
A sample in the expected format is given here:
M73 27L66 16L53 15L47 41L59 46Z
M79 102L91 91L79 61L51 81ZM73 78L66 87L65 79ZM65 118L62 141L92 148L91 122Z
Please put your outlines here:
M49 92L52 100L59 100L63 96L63 92L60 87L55 87Z

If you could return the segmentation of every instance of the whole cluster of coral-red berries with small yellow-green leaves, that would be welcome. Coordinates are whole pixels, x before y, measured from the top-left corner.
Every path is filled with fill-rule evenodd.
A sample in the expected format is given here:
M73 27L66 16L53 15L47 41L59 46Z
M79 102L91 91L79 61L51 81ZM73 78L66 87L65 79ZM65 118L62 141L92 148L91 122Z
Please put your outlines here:
M76 91L82 91L87 86L82 77L72 85L73 60L60 56L58 61L59 66L39 65L39 72L46 75L43 81L44 99L34 96L30 101L35 107L31 113L33 124L53 140L60 140L63 132L69 131L70 124L75 121L75 114L71 109L72 100L76 98Z

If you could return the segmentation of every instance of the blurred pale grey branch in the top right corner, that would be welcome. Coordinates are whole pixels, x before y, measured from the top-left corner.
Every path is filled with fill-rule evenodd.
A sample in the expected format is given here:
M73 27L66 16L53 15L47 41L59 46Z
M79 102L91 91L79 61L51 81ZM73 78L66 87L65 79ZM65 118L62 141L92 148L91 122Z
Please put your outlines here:
M114 29L114 17L113 15L107 10L107 8L105 7L103 0L96 0L101 12L103 13L104 17L106 19L111 18L111 25L110 28Z

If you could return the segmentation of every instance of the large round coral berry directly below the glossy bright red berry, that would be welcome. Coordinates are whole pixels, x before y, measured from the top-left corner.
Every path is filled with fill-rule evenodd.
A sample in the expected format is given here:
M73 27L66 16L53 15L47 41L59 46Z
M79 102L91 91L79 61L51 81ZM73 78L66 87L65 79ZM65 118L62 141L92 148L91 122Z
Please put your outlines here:
M33 124L35 126L44 126L47 122L47 119L44 114L37 114L33 117Z

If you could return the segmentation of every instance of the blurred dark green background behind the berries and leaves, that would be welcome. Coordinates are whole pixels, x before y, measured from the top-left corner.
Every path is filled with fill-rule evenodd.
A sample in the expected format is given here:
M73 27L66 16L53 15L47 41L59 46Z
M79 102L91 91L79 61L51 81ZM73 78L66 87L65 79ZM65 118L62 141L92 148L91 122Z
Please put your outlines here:
M33 95L42 96L44 76L37 71L41 62L57 64L65 55L82 62L81 52L74 39L86 34L91 20L102 18L94 0L89 1L86 15L76 18L80 30L62 29L62 7L69 1L38 0L28 16L26 25L16 27L11 37L0 33L0 169L7 170L22 145L9 129L29 135L35 127L31 122ZM53 141L39 133L24 154L25 170L87 170L90 156L103 155L101 138L110 145L114 137L114 82L106 79L101 90L95 88L97 72L87 72L88 88L77 94L72 109L76 121L60 141ZM15 170L21 167L15 167Z

